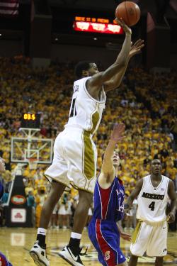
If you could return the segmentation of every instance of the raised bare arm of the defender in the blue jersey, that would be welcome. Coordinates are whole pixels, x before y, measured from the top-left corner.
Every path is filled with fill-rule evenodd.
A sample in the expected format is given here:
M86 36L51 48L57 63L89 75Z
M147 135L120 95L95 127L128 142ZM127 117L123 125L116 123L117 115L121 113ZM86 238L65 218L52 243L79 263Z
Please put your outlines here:
M108 143L107 148L105 149L103 165L101 167L101 174L99 180L107 179L108 182L113 181L115 177L115 169L113 167L114 160L119 160L118 154L115 154L114 158L115 144L122 140L122 138L124 138L124 132L124 123L119 123L114 126L113 133L110 136L110 141Z

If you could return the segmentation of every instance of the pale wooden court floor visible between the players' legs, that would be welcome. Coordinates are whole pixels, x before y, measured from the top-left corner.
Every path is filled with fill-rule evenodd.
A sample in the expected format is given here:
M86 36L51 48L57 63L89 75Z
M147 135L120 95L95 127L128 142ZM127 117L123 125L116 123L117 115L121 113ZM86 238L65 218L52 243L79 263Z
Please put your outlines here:
M0 250L6 255L13 266L35 266L28 250L32 247L36 235L35 228L0 228ZM47 233L47 253L50 259L50 266L68 265L57 255L64 245L69 241L69 229L49 229ZM164 265L177 265L177 232L169 232L168 255L165 257ZM85 266L101 265L97 259L96 250L89 241L87 231L83 233L81 245L88 247L88 255L81 257ZM121 240L121 248L128 258L130 255L130 243ZM154 265L154 258L141 257L139 265Z

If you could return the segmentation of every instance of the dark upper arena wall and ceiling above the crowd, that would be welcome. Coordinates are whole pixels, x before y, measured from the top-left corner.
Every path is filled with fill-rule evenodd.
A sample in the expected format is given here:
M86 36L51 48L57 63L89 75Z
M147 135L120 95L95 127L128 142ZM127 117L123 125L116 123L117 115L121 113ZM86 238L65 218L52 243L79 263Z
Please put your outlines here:
M78 33L74 32L72 24L74 16L113 19L115 8L120 2L115 0L35 0L34 2L22 0L18 16L0 16L0 56L23 54L38 58L57 57L62 61L76 60L76 55L80 60L84 57L84 52L89 57L93 52L93 57L98 55L98 60L101 60L101 54L109 50L108 57L111 61L120 50L124 35ZM132 40L143 38L146 43L141 57L142 63L147 67L175 67L177 0L135 2L141 9L141 18L137 25L132 27ZM148 33L152 21L154 31ZM157 55L158 52L159 55ZM165 54L166 58L164 58ZM154 55L157 62L154 62ZM152 60L149 61L150 57ZM162 58L164 58L164 64ZM106 61L109 61L108 58Z

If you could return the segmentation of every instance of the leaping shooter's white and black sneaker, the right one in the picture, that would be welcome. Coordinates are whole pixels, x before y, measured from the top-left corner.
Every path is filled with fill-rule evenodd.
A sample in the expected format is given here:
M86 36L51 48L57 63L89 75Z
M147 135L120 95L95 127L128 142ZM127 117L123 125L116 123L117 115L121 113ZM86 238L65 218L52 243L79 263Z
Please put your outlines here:
M82 254L80 249L78 255L74 256L72 250L67 245L62 251L58 253L58 255L72 266L83 266L84 264L81 261L80 255L86 255L86 252Z

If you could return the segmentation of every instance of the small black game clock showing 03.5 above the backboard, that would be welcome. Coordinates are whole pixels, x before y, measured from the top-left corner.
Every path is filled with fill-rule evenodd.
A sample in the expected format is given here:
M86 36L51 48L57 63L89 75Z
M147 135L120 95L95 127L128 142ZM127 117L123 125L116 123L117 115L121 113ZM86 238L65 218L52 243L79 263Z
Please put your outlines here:
M23 113L21 128L40 128L40 113Z

